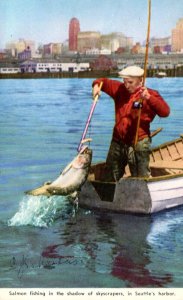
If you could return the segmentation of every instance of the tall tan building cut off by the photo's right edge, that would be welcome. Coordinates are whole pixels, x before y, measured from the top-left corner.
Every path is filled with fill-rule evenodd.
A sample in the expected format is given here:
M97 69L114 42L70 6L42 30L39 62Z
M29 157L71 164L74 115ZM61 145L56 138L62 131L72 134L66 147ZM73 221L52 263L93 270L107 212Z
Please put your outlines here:
M178 20L176 27L172 30L172 51L183 51L183 18Z

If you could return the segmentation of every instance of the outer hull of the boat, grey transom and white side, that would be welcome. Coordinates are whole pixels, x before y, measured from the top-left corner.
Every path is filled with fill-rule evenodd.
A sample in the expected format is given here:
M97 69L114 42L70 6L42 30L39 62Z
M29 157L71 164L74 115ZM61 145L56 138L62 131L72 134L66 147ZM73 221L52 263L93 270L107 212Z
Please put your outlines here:
M183 175L122 178L117 183L87 181L78 199L81 207L89 209L152 214L183 204Z

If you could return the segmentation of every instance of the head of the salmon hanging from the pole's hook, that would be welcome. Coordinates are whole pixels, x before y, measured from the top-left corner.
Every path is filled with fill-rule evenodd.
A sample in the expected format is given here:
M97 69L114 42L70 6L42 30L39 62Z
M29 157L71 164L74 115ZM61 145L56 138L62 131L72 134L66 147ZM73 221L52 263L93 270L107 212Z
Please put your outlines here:
M92 150L87 146L83 147L75 160L73 161L73 167L76 169L84 169L91 165L92 161Z

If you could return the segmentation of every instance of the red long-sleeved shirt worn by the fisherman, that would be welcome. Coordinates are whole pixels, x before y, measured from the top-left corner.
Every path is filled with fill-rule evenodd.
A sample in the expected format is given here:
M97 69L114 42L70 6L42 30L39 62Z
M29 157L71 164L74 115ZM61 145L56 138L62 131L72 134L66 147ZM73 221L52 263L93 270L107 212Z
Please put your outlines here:
M115 103L116 120L113 139L132 145L136 135L138 119L138 109L134 108L134 102L140 100L139 91L130 94L124 83L108 78L96 79L93 85L100 84L101 81L103 82L102 91L112 97ZM148 88L148 92L150 99L143 100L142 104L138 140L150 135L150 123L156 115L167 117L170 113L168 104L157 91Z

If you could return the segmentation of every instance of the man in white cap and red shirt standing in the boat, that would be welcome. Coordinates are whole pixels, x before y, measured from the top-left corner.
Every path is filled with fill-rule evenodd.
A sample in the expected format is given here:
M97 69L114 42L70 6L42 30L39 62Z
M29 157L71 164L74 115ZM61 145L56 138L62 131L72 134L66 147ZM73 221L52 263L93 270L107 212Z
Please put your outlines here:
M99 85L103 82L101 90L112 97L115 104L115 126L106 160L107 180L118 181L124 175L127 164L132 176L151 175L150 123L156 115L167 117L170 108L157 91L143 86L143 74L144 70L140 67L130 66L119 72L123 83L108 78L93 82L93 96L100 93ZM136 132L138 139L135 145Z

